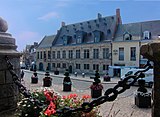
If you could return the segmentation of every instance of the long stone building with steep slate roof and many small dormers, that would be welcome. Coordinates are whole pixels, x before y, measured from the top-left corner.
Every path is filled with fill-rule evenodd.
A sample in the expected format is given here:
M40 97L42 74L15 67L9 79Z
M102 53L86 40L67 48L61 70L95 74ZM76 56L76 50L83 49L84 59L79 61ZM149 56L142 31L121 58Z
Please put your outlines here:
M111 42L115 37L118 25L121 24L120 10L116 15L102 17L98 13L97 19L62 26L52 42L51 57L45 62L37 58L37 65L43 64L52 71L60 72L69 69L70 73L106 73L111 62ZM40 43L41 45L41 43ZM37 54L47 50L38 48ZM40 55L38 55L40 56ZM44 59L42 57L42 59Z

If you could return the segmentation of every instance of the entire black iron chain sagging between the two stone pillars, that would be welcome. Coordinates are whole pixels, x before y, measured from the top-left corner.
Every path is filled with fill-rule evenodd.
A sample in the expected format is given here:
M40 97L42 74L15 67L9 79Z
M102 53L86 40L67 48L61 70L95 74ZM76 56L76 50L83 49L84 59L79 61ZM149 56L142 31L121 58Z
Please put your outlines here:
M8 70L12 75L14 83L18 86L20 93L22 93L26 98L29 98L30 101L37 107L42 109L43 104L40 103L39 100L33 98L29 90L27 90L26 87L23 84L21 84L18 76L13 70L12 63L9 61L9 58L7 56L5 57L5 60L7 62ZM84 102L79 108L65 107L63 109L56 110L56 112L59 115L59 117L70 116L73 112L77 111L83 111L87 113L98 105L101 105L107 101L114 101L117 98L118 94L121 94L127 89L129 89L139 78L144 78L145 77L144 72L148 71L150 68L151 64L148 61L147 64L144 66L144 70L139 70L134 75L127 76L122 81L119 81L118 84L115 85L113 88L107 89L104 93L104 96L101 96L91 102Z

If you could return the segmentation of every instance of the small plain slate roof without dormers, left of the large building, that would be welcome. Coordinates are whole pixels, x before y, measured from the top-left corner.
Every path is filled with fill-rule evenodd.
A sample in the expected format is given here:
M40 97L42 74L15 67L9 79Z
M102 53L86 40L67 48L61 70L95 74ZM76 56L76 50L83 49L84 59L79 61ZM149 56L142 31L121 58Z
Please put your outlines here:
M45 36L39 43L37 49L51 47L55 37L56 35Z

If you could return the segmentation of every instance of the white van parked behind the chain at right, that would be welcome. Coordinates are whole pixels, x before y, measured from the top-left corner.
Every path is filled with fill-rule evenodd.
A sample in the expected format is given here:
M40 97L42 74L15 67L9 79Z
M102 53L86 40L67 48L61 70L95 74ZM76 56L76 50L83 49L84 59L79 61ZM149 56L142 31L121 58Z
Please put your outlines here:
M137 71L144 70L144 69L130 69L128 70L123 76L121 76L121 80L125 79L129 75L134 75ZM144 72L145 77L143 78L145 80L146 86L152 87L153 85L153 69L149 69L148 71ZM133 79L128 80L128 82L132 82ZM137 82L135 85L138 84Z

